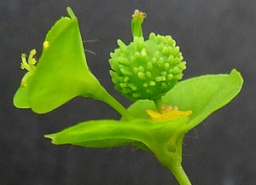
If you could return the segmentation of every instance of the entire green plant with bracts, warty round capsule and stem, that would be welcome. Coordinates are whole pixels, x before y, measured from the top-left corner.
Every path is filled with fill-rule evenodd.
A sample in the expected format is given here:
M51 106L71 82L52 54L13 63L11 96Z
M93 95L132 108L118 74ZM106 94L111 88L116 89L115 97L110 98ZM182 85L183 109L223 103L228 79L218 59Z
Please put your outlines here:
M182 168L184 135L231 101L243 79L230 74L205 75L178 82L186 62L171 36L151 33L143 38L146 14L136 10L131 20L133 42L111 53L110 75L116 90L135 101L126 109L105 90L86 63L79 23L72 9L49 30L36 66L36 50L21 68L26 75L14 97L15 107L48 113L76 96L104 101L121 120L91 120L45 135L56 145L117 147L133 145L154 153L180 184L191 184ZM175 106L175 107L173 107ZM182 111L181 111L182 110Z

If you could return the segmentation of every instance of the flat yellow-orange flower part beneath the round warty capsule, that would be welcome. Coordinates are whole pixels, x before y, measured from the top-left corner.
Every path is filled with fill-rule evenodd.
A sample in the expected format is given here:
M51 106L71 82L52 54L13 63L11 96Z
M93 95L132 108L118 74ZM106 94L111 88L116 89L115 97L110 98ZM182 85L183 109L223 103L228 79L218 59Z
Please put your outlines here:
M178 119L189 116L192 113L192 111L179 111L177 107L171 106L162 107L161 113L154 112L150 109L147 109L146 112L148 113L152 121Z

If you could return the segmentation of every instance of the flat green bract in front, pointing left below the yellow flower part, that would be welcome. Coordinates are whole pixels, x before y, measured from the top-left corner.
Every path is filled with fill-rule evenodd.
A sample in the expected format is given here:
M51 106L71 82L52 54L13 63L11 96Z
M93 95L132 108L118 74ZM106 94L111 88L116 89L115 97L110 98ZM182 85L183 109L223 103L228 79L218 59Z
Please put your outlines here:
M118 147L127 144L136 144L142 149L168 145L176 147L176 143L170 140L187 121L188 117L158 123L148 119L87 121L45 137L57 145L73 144L82 147Z

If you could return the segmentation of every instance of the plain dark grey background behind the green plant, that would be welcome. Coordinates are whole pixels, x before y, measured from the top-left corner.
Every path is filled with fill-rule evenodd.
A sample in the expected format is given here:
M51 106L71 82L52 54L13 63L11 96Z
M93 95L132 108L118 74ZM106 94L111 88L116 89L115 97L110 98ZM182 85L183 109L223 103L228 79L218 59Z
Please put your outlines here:
M171 34L188 69L184 78L207 73L241 72L245 84L234 101L189 132L183 167L196 185L256 184L255 58L256 1L123 0L0 1L0 184L177 184L152 153L132 147L90 149L54 146L44 134L89 119L119 119L99 101L76 98L52 113L37 115L12 105L24 71L20 54L42 48L49 28L72 7L79 18L91 71L125 107L113 90L109 53L116 40L131 42L131 14L148 14L149 32ZM40 53L40 52L39 52ZM38 54L39 56L39 54Z

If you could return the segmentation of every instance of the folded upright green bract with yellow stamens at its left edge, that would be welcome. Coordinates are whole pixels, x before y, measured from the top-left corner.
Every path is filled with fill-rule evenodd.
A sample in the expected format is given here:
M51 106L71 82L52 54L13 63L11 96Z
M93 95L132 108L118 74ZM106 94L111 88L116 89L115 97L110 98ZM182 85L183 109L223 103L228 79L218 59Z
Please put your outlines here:
M87 66L78 20L70 8L67 12L70 17L46 35L38 65L15 94L16 107L47 113L78 95L100 99L106 92Z

